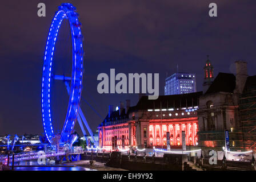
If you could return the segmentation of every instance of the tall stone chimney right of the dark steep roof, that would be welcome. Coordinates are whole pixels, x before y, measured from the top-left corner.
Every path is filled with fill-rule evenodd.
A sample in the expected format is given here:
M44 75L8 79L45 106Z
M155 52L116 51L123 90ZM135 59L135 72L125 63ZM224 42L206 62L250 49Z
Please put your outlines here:
M247 62L235 61L235 68L237 70L237 75L235 75L235 89L238 93L242 93L248 77Z

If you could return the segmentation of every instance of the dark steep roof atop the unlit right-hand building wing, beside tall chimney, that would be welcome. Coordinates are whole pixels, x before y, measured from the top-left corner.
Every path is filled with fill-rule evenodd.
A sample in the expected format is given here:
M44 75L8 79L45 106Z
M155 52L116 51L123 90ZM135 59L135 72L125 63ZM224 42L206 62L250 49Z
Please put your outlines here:
M235 89L235 76L231 73L219 73L206 94L216 92L230 92Z

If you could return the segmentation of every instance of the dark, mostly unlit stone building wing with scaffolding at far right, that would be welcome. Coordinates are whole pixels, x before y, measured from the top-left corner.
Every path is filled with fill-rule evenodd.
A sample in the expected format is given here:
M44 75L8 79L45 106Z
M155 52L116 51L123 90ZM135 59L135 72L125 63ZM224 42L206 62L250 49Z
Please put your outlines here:
M219 73L199 100L198 143L206 156L215 150L222 159L223 147L230 151L256 147L255 76L247 75L245 61L236 61L235 66L235 75ZM228 146L225 131L229 131Z

